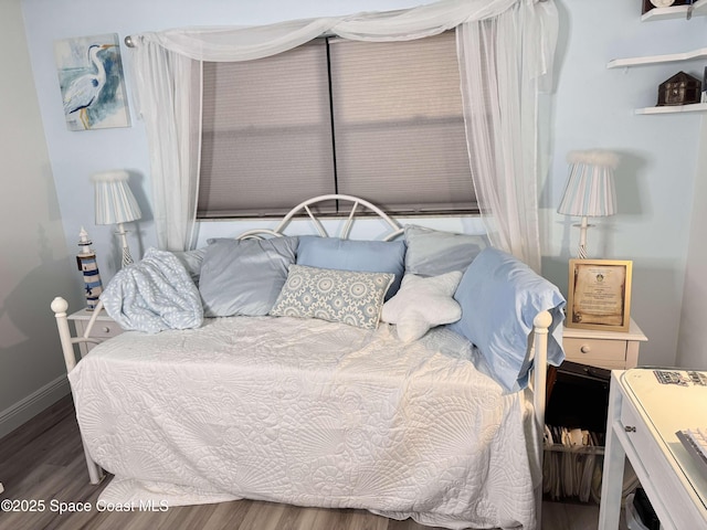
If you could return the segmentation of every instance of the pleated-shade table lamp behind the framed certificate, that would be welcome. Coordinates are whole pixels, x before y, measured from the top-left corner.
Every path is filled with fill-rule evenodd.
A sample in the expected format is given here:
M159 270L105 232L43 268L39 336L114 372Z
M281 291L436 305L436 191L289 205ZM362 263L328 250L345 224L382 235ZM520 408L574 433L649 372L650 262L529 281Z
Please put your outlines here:
M577 257L587 259L587 218L616 213L614 168L619 157L609 151L571 151L567 157L570 176L567 179L558 213L582 218Z

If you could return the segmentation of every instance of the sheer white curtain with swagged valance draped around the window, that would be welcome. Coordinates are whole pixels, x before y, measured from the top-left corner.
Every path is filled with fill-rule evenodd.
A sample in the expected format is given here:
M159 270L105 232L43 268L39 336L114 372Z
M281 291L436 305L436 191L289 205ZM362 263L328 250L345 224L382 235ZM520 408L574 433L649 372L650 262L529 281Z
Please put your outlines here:
M503 72L518 65L526 68L528 64L537 70L538 65L550 64L555 52L555 35L546 35L544 31L556 24L557 13L552 0L540 3L538 0L441 0L393 12L296 20L256 28L169 30L133 35L136 43L138 112L145 119L150 141L152 193L156 195L155 224L159 246L167 250L186 250L192 244L199 176L201 61L247 61L265 57L295 47L323 33L380 42L419 39L458 26L463 28L463 31L482 32L479 24L502 14L507 22L499 24L499 29L496 30L497 41L520 40L523 45L532 45L527 49L496 45L493 50L495 56L492 57L485 56L487 51L481 50L473 39L460 38L460 67L463 78L468 77L477 68L476 65L483 62L498 61L498 67ZM534 40L542 43L536 43ZM507 54L513 56L506 57ZM500 55L504 57L499 57ZM549 70L546 68L547 72ZM498 75L502 76L500 73ZM475 89L475 86L464 81L463 91L472 89ZM530 128L520 126L520 123L526 124L527 119L506 119L508 113L525 117L525 107L519 98L526 95L525 91L502 87L496 97L497 108L492 112L498 113L503 119L495 120L493 127L485 127L483 130L483 134L492 135L492 138L478 140L488 146L489 152L489 162L478 167L479 171L493 169L495 177L500 176L504 179L515 179L519 173L527 178L537 177L537 170L530 168L530 162L535 163L535 156L521 157L524 163L526 158L532 158L527 161L527 167L513 167L503 172L496 171L499 161L494 159L490 162L490 157L498 155L496 151L500 142L524 146L523 150L527 151L536 149L537 130L535 136L530 137ZM535 100L535 97L532 99ZM467 117L467 125L476 119L474 116L478 110L478 105L469 105L468 100L474 98L465 97L465 114L473 113ZM499 131L495 127L506 129ZM471 134L469 129L469 137ZM477 140L474 138L472 141ZM469 148L472 158L476 156L476 147ZM506 162L503 161L503 165ZM483 195L487 192L493 193L494 190L487 190L487 187L482 186L476 192ZM535 189L531 195L535 198L536 208L532 218L527 222L536 225L537 237ZM514 197L518 198L518 193L508 197L504 194L503 201L511 201ZM487 203L482 197L479 202ZM503 204L504 209L515 210L515 214L518 215L518 209L515 205L510 206L511 204ZM484 208L483 214L496 218L505 213L495 208ZM497 232L496 226L506 224L508 223L489 223L494 233ZM504 237L494 236L493 241L499 247L539 268L539 265L536 267L532 263L535 258L531 255L528 256L525 252L517 253L518 248L527 246L516 244L519 236L515 231L509 231ZM513 244L508 244L510 241ZM535 245L539 248L539 242ZM539 263L539 251L537 261Z

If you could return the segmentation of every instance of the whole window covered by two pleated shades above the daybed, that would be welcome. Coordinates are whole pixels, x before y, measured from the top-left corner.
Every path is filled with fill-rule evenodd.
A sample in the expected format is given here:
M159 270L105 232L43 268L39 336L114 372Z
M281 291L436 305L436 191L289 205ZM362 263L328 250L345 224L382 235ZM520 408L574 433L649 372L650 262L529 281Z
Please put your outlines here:
M325 193L398 214L476 211L454 32L317 39L204 63L203 77L199 218L281 215Z

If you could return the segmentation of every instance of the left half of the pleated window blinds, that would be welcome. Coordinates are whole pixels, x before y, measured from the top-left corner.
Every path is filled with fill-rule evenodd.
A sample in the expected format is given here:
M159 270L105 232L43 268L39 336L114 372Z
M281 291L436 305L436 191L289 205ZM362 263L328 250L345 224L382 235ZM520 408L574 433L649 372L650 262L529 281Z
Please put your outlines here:
M198 216L281 215L334 193L326 43L204 63Z

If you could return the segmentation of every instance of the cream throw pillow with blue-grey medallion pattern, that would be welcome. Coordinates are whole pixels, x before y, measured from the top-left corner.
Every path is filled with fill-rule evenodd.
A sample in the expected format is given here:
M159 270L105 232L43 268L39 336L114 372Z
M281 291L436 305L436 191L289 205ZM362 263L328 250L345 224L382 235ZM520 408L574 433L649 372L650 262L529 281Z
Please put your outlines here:
M376 329L394 275L291 265L270 314Z

